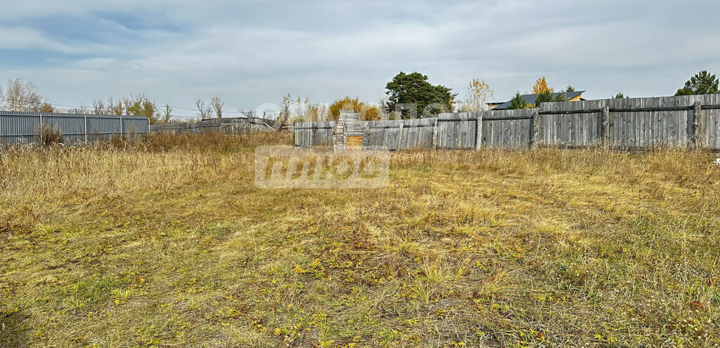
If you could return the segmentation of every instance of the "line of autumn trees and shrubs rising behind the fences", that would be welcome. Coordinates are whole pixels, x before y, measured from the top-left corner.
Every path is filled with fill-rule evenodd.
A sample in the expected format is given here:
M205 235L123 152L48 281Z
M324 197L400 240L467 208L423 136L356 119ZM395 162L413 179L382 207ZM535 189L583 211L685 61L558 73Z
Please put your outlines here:
M483 111L489 109L487 103L492 100L493 91L490 86L478 78L473 78L467 86L465 99L459 99L458 93L443 85L433 85L428 76L418 72L400 72L385 85L387 98L379 103L372 104L361 101L358 97L344 96L331 104L311 102L300 96L292 97L288 93L282 99L277 120L291 121L319 121L335 120L340 111L358 111L362 119L408 119L434 116L440 112L467 112ZM508 109L537 108L542 103L567 100L567 93L575 91L567 86L560 93L554 93L554 88L548 86L545 76L535 81L532 88L537 94L533 104L528 103L518 91L510 100ZM720 93L719 81L716 75L702 70L693 75L678 89L676 96L693 94ZM624 93L618 92L613 98L628 98ZM220 96L212 96L210 101L197 99L195 102L199 119L222 118L225 116L225 101ZM5 88L0 86L0 109L12 111L58 112L48 99L40 96L31 82L24 82L20 78L9 80ZM147 116L150 123L169 123L173 118L173 109L169 105L159 106L153 99L145 94L132 94L120 99L110 96L107 101L96 99L91 106L76 106L67 109L73 114L99 114L99 115L133 115ZM230 111L233 112L233 111ZM255 111L238 110L244 116L259 116ZM264 116L264 115L263 115Z

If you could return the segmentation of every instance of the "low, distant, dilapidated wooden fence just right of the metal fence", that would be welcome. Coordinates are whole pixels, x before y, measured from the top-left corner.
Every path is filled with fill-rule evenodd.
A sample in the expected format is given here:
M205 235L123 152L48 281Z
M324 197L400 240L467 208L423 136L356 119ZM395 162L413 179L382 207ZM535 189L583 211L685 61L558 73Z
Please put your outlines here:
M279 122L257 117L233 117L223 119L203 119L198 122L176 122L170 124L151 124L150 132L160 133L196 133L224 132L245 135L255 132L274 132L281 127Z

